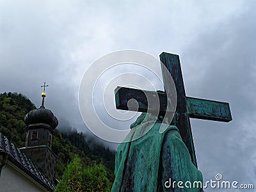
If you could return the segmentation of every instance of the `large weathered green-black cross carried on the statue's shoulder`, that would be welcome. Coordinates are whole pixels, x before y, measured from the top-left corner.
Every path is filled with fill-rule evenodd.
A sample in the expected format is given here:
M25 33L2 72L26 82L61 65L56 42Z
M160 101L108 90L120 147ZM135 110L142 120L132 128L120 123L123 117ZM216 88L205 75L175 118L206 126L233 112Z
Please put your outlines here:
M191 160L193 164L195 164L195 166L197 167L195 147L193 143L193 136L191 132L191 125L190 125L189 118L199 118L199 119L214 120L219 122L230 122L230 120L232 120L232 116L230 113L229 104L227 102L219 102L215 100L205 100L205 99L197 99L193 97L186 97L183 78L182 78L182 72L180 68L179 56L176 54L163 52L160 55L160 60L163 63L163 65L167 68L168 72L170 72L176 86L177 108L171 124L178 127L180 131L180 136L189 150ZM163 68L162 68L162 74L163 74L164 90L166 92L168 91L170 92L172 85L171 83L168 82L168 77L166 77L166 75L164 74ZM167 106L166 92L158 93L159 103L160 103L159 113L166 112L166 106ZM148 100L146 95L147 96L149 95L148 97L152 95L153 97L154 94L156 94L156 92L151 92L147 90L136 90L136 89L125 88L125 87L117 87L115 89L116 109L132 110L132 111L138 110L140 112L147 112ZM128 109L127 102L130 99L137 100L138 108ZM154 111L154 109L150 109L150 110Z

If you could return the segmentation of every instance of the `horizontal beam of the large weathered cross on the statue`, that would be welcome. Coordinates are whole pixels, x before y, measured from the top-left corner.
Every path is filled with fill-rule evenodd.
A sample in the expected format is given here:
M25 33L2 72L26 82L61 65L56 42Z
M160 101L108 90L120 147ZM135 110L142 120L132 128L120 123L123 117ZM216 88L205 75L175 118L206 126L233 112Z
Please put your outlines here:
M154 112L157 108L148 108L147 97L159 98L159 113L166 113L167 95L166 93L156 93L154 91L137 90L134 88L126 88L118 86L115 89L116 109L139 111L139 112ZM130 99L135 99L135 102L130 102L129 108L127 102ZM213 120L218 122L230 122L232 120L228 102L220 102L216 100L198 99L186 97L187 113L190 118L198 118L204 120Z

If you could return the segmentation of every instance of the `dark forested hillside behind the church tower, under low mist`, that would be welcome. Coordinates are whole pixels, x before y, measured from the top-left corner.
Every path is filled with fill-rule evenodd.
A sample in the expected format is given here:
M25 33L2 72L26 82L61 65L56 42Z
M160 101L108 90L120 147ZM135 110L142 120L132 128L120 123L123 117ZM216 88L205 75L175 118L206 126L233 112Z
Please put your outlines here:
M20 148L25 146L24 116L31 110L36 109L35 105L24 95L18 93L0 93L0 132ZM58 155L56 165L56 178L61 179L67 163L75 156L80 157L84 166L102 162L106 166L108 179L114 180L115 152L101 145L89 147L84 140L83 133L76 129L70 132L61 133L56 130L56 136L52 141L52 150Z

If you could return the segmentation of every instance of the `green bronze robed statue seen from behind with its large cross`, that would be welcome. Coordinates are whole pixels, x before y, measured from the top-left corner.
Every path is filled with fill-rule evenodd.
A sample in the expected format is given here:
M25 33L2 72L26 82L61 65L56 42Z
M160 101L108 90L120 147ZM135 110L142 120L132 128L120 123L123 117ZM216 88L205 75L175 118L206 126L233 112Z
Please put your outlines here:
M162 70L165 93L116 88L117 109L128 110L127 102L136 99L139 106L131 105L129 110L138 109L149 113L143 113L132 124L131 132L125 138L125 141L130 142L121 143L118 147L115 162L116 178L112 191L202 191L200 188L193 188L193 182L202 182L202 174L197 170L189 118L221 122L232 120L228 103L186 97L178 55L163 52L160 60L170 72L177 90L177 108L172 123L162 122L163 115L173 113L166 109L167 102L170 102L167 95L172 95L173 87L168 75L164 74L166 70ZM161 67L163 68L163 65ZM154 109L154 104L148 108L146 95L158 95L160 109ZM156 116L154 111L159 111L159 115ZM168 128L161 132L159 129L163 124ZM145 135L140 138L143 133ZM138 140L132 141L132 138ZM183 184L188 181L192 188L173 188L172 183L170 188L166 188L164 184L168 180L180 181Z

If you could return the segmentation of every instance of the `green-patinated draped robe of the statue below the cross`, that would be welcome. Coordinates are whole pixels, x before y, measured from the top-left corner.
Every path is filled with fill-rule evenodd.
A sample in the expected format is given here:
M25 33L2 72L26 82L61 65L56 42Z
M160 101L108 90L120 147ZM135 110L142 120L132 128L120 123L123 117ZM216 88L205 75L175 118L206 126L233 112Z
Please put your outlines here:
M160 133L159 117L156 120L151 115L147 121L143 118L145 113L131 125L131 132L125 139L129 142L121 143L116 151L115 181L111 191L202 191L197 184L193 188L194 181L203 182L202 173L192 163L179 129L166 125ZM131 141L138 135L140 138ZM173 181L176 181L174 188ZM179 181L183 182L183 189L177 188ZM192 188L186 188L187 181Z

